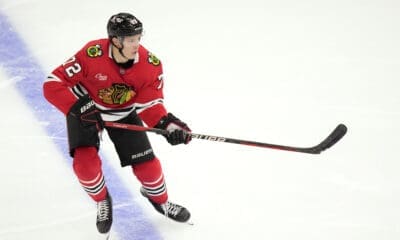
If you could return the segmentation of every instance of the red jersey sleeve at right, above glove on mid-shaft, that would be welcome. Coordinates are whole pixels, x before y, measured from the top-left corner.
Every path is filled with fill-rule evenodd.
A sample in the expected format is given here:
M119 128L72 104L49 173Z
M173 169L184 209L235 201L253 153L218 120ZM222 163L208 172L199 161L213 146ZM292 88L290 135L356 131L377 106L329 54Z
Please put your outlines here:
M149 127L154 127L162 117L167 115L164 107L164 75L161 62L157 66L151 81L137 94L135 108L140 118Z

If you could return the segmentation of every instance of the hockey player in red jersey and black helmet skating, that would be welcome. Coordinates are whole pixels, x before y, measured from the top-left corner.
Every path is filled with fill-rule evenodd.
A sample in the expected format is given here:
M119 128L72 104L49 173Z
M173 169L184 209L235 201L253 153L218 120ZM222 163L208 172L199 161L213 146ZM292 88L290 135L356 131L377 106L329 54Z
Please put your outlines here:
M161 214L187 222L189 211L168 201L165 179L144 132L104 128L116 121L166 129L167 141L187 144L189 127L163 105L162 64L140 44L142 23L118 13L107 23L107 39L90 41L57 67L43 84L45 98L66 116L73 170L83 189L97 202L97 229L108 233L112 200L98 155L99 133L108 132L121 166L130 166L141 194Z

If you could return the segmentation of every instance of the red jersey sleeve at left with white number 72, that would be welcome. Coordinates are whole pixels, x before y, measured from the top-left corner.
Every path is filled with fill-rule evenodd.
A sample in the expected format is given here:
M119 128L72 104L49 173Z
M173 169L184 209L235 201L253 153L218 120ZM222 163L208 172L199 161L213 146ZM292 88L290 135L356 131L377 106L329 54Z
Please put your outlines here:
M44 97L65 115L83 94L76 93L76 86L85 74L80 55L81 51L54 69L43 83Z

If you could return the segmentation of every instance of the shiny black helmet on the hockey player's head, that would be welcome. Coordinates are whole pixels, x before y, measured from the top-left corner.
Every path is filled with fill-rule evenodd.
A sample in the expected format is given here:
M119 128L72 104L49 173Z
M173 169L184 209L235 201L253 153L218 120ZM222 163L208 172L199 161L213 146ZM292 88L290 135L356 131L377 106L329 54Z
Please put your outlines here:
M141 34L143 25L130 13L112 15L107 23L108 37L126 37Z

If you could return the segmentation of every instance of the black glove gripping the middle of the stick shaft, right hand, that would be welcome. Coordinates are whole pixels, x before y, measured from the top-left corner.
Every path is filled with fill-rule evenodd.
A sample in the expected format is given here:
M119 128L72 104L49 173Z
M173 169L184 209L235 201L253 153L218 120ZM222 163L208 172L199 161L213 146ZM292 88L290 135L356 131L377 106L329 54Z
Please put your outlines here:
M172 113L168 113L167 116L161 118L155 127L165 129L169 132L164 137L171 145L188 144L192 140L190 128Z

